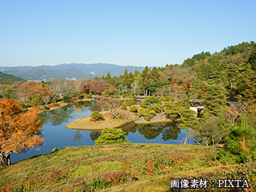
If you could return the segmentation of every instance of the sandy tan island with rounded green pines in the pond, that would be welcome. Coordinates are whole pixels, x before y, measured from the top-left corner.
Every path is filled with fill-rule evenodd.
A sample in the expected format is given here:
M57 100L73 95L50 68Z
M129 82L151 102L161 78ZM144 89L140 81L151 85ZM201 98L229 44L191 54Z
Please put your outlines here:
M97 103L114 103L117 107L111 107L109 111L102 111L102 120L92 121L90 116L81 117L70 122L66 127L70 129L84 129L84 130L102 130L105 127L117 128L128 122L135 122L137 124L151 124L161 122L178 121L179 113L182 107L178 102L172 102L168 99L161 101L156 97L146 97L140 105L133 105L133 100L114 100L110 98L100 98ZM179 107L179 110L170 110L171 108ZM188 108L188 105L186 105ZM114 118L112 118L114 116Z

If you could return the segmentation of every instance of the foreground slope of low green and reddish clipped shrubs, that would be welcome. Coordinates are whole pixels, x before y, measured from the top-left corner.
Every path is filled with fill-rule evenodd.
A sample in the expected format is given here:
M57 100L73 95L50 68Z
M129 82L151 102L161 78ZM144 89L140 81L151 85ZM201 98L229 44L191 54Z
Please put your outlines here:
M256 164L224 166L217 153L171 144L65 147L1 168L0 191L170 191L170 178L247 178L255 191Z

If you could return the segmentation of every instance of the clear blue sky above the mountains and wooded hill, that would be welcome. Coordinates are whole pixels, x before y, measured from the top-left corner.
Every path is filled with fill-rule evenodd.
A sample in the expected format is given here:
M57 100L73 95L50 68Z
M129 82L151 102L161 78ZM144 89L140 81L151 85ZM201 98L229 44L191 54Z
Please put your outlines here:
M255 41L256 1L0 0L0 66L181 64Z

